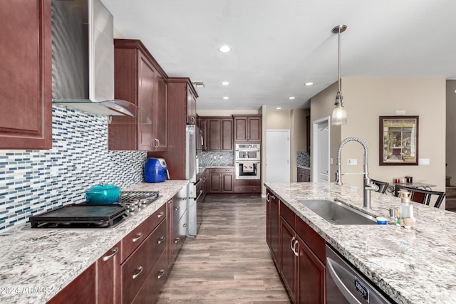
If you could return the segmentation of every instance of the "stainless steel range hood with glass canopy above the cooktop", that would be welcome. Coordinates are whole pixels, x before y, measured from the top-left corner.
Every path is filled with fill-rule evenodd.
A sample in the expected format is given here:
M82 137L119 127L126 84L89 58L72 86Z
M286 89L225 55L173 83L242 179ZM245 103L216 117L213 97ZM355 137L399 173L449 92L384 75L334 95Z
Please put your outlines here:
M136 105L114 100L113 35L113 15L100 0L52 0L53 103L150 124Z

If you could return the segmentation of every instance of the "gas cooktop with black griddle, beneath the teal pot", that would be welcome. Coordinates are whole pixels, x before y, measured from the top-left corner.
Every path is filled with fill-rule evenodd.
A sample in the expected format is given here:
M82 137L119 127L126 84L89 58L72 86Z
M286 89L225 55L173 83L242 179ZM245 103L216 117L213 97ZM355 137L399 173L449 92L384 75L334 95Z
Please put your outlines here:
M112 228L158 197L158 192L120 192L115 204L70 204L30 216L28 221L32 228Z

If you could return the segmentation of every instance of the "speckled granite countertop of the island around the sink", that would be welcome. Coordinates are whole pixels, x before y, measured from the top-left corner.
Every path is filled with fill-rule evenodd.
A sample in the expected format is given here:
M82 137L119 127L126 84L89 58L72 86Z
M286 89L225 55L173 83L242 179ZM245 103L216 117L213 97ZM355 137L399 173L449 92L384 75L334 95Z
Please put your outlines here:
M372 216L389 216L400 199L372 192L363 210L358 187L335 183L265 183L358 270L397 303L454 303L456 299L456 214L412 203L413 229L388 225L330 224L296 199L339 199ZM385 209L383 209L385 208Z

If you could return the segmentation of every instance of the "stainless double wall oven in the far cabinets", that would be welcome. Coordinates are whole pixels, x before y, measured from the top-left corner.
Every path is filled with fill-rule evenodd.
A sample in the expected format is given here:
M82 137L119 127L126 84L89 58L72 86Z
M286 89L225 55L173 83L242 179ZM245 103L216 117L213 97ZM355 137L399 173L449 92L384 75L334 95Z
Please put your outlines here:
M234 172L236 179L260 179L260 144L236 144Z

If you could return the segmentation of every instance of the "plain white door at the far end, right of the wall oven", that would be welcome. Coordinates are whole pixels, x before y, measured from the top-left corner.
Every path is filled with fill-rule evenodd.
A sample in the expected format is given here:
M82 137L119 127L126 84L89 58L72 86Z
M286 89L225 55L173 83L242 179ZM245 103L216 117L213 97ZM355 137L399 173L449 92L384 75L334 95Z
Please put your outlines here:
M266 130L266 182L290 182L290 130Z

